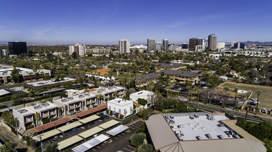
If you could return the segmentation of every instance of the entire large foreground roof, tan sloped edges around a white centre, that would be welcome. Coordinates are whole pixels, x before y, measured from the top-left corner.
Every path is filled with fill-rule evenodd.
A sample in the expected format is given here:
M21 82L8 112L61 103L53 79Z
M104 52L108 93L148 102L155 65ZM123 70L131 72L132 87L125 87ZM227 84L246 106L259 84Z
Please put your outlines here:
M266 151L260 140L236 126L224 113L152 115L146 126L156 151Z

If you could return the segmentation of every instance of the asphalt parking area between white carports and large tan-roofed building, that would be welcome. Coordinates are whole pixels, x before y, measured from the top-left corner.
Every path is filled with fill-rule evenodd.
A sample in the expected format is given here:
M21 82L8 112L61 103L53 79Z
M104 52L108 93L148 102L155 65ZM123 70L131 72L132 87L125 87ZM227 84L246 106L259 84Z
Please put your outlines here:
M124 152L132 152L136 149L135 146L130 145L129 137L137 132L137 129L139 129L144 122L139 121L135 122L134 124L130 124L128 127L130 129L130 133L127 133L124 131L123 133L120 133L119 135L116 135L115 137L110 136L110 139L112 140L111 143L106 144L99 144L98 146L95 146L93 149L90 149L89 151L92 152L102 152L102 151L124 151Z

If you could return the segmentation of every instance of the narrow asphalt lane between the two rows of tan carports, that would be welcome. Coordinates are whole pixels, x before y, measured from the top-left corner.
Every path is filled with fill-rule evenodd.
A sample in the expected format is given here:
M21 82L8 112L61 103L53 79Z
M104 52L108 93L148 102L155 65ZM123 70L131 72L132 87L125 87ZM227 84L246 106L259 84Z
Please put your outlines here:
M78 131L75 131L75 132L72 131L72 130L66 131L65 133L62 133L62 134L57 135L55 137L52 137L49 140L43 141L42 144L44 146L46 146L46 144L50 144L53 141L55 141L56 143L61 142L62 140L66 140L69 137L73 137L74 135L78 135L79 133L87 131L88 129L92 129L95 126L99 126L100 124L103 124L103 123L108 122L110 120L114 120L114 118L113 117L108 117L108 119L99 119L99 120L96 120L94 122L90 122L89 124L83 124L82 126L79 126L77 128ZM117 121L119 121L119 120L117 120Z

